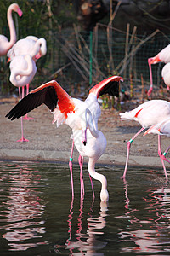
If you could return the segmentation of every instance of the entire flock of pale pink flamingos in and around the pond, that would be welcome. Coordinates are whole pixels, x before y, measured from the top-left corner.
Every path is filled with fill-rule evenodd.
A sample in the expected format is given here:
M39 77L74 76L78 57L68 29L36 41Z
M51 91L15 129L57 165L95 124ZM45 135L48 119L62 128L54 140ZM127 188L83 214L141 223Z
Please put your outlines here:
M37 60L46 55L47 45L44 38L35 36L27 36L16 42L16 32L12 19L12 11L17 12L19 16L22 11L18 4L13 3L8 8L7 19L10 30L10 41L4 36L0 36L0 56L7 55L10 77L9 80L14 86L19 88L20 102L14 106L6 115L8 119L21 119L21 139L20 142L27 142L23 133L23 117L27 117L27 113L33 109L45 104L51 113L54 115L53 123L59 125L68 125L71 127L72 147L69 160L71 172L71 192L72 199L74 198L74 184L72 173L73 149L77 148L79 153L80 166L80 183L81 183L81 199L85 194L82 166L84 157L88 157L88 173L92 185L94 195L94 186L92 178L99 180L101 183L100 200L109 201L109 193L107 190L107 179L103 174L95 171L95 164L99 157L104 154L106 148L106 138L102 131L98 129L98 121L101 114L99 106L99 96L109 94L111 96L119 96L120 82L123 82L122 77L112 76L94 85L89 90L88 97L85 101L77 98L72 98L55 80L42 84L29 92L29 84L37 72ZM164 62L161 75L164 79L167 88L170 86L170 44L165 49L162 49L156 56L148 59L150 69L150 96L153 90L153 79L151 65L158 62ZM24 96L26 86L26 96ZM20 88L22 87L22 92ZM167 177L167 170L164 161L167 160L167 152L170 146L162 154L161 152L161 136L170 137L170 102L164 100L151 100L140 104L137 108L125 113L120 113L120 118L125 120L134 120L141 125L139 131L127 142L127 159L124 167L122 179L125 180L127 175L127 165L129 160L130 148L133 140L144 132L144 136L150 133L158 136L158 155L161 159L164 174Z

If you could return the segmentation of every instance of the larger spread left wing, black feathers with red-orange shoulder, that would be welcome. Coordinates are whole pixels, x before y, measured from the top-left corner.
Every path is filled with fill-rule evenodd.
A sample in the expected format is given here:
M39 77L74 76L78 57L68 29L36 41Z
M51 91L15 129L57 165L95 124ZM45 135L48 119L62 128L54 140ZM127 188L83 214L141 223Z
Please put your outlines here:
M31 90L5 117L11 120L19 119L42 104L45 104L52 112L58 104L60 112L65 113L65 117L75 109L71 96L53 80Z

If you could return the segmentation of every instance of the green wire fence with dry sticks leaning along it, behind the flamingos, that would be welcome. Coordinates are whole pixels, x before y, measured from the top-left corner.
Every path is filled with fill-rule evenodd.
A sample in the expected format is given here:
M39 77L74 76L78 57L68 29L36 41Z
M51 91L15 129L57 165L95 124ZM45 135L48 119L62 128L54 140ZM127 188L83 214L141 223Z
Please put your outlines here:
M30 33L31 34L31 33ZM23 38L20 33L20 38ZM120 32L113 27L98 25L94 32L80 32L77 26L61 32L45 31L37 35L47 40L48 52L37 61L37 73L31 88L56 79L71 94L87 94L92 84L118 74L125 81L125 90L144 90L150 86L148 58L156 55L169 44L170 38L161 32L150 36L138 36L133 32ZM10 70L7 57L0 58L0 93L13 93L9 82ZM159 88L161 68L164 64L152 65L153 82Z

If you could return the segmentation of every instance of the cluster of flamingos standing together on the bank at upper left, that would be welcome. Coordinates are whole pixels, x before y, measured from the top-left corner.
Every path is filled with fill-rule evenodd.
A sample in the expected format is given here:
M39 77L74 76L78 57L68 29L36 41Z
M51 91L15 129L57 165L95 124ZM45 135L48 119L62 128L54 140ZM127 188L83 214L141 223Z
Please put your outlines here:
M10 62L9 80L14 86L19 88L19 97L21 100L24 97L25 86L26 94L29 92L29 84L37 72L36 62L47 53L47 46L44 38L37 38L35 36L27 36L17 41L12 17L13 11L18 13L20 17L22 16L22 10L17 3L12 3L8 7L7 20L10 41L8 41L8 38L5 36L0 35L0 56L8 56L8 62ZM20 88L22 88L22 92ZM24 119L30 120L32 118L26 115ZM28 141L29 140L24 137L23 118L21 118L21 138L18 142Z

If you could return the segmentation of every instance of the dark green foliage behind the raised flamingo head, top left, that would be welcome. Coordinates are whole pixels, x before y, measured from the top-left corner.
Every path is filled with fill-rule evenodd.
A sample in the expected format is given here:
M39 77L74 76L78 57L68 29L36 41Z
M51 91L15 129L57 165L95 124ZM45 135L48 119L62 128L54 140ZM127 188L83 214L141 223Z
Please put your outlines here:
M14 1L0 0L0 33L9 35L7 22L7 9ZM40 0L18 0L23 16L13 14L14 21L17 21L19 29L18 38L25 38L28 34L42 37L44 31L51 29L58 30L59 26L71 26L76 22L76 15L72 1L40 1Z

